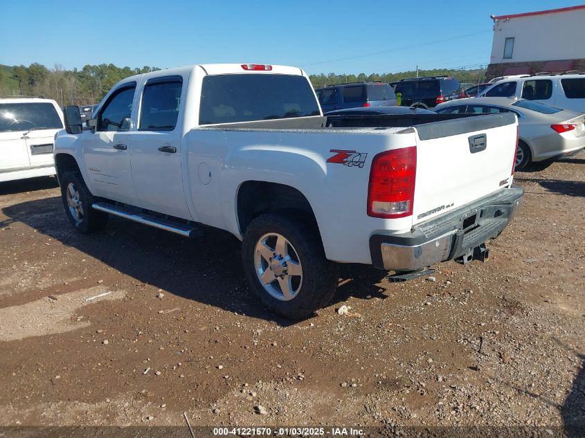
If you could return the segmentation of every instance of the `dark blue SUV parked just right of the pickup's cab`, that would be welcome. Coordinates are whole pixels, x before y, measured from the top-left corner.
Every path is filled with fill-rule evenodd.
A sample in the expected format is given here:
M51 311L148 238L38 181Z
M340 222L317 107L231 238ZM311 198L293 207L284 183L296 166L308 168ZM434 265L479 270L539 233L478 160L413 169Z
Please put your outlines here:
M392 87L385 82L336 84L320 88L316 93L324 113L336 109L387 107L397 104Z

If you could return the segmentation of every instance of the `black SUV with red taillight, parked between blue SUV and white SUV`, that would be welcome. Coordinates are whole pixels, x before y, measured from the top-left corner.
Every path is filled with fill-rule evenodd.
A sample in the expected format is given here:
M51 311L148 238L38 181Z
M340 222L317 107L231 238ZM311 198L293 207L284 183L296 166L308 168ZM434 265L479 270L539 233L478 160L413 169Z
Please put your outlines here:
M461 84L455 77L431 76L411 77L395 82L395 93L398 104L410 107L434 108L448 100L461 97Z

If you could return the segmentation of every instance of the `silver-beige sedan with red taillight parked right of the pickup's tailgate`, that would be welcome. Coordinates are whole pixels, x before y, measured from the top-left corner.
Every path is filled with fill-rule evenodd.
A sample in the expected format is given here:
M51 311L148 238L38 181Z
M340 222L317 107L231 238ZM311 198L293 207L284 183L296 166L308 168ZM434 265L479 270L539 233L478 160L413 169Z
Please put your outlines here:
M514 113L518 116L516 170L535 161L554 160L576 154L585 147L585 116L534 100L469 98L435 108L446 113Z

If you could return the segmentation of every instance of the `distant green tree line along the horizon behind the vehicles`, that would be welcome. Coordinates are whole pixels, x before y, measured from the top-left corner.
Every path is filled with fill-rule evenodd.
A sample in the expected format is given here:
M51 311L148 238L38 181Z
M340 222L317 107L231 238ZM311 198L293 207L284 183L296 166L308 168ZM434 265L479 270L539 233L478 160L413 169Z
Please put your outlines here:
M138 73L160 70L158 67L118 67L114 64L86 65L81 70L65 70L59 64L53 69L33 62L30 66L0 65L0 96L37 95L54 99L62 107L71 104L86 105L100 102L116 82ZM313 86L321 88L346 82L395 82L406 77L416 77L416 71L401 73L359 73L359 75L309 75ZM485 69L476 70L425 70L420 77L449 75L460 82L478 83L485 78Z

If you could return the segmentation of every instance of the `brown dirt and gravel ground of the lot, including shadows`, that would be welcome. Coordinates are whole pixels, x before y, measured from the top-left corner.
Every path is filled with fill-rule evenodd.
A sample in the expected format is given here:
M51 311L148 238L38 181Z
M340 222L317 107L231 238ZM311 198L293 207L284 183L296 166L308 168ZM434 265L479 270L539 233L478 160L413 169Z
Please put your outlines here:
M585 152L516 183L489 262L344 266L294 324L224 232L79 235L54 179L0 183L0 426L585 423Z

